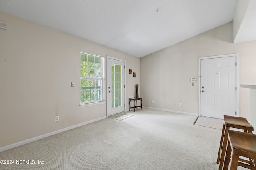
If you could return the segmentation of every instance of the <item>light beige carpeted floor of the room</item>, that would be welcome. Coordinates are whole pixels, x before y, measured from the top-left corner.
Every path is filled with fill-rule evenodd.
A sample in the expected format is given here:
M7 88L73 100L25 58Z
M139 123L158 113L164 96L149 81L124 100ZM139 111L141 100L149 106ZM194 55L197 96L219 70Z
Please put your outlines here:
M15 161L0 164L0 170L218 169L221 130L193 125L197 118L193 115L145 108L134 114L122 121L107 118L0 152L0 160Z

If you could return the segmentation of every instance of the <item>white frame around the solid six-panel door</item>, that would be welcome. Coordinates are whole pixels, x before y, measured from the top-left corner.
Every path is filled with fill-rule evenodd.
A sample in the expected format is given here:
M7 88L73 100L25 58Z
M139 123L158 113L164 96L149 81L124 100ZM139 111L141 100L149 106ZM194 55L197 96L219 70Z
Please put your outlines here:
M201 116L201 60L221 57L236 57L236 117L239 117L239 53L198 58L198 116Z

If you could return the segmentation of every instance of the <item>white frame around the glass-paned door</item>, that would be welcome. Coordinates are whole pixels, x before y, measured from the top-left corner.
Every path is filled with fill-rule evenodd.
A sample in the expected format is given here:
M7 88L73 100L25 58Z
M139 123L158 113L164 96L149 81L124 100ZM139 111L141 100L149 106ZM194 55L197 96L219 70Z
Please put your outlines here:
M126 66L126 60L122 60L122 59L118 59L118 58L115 58L115 57L111 57L111 56L108 56L107 55L107 62L106 62L106 89L108 89L108 78L111 78L111 77L109 77L108 76L108 59L113 59L113 60L117 60L117 61L122 61L122 62L124 62L124 85L126 85L126 68L125 68L125 66ZM110 107L110 105L109 104L111 104L111 101L108 101L108 93L107 93L107 91L108 90L106 90L106 101L107 101L107 107L106 107L106 109L107 109L107 117L108 117L108 107ZM126 107L126 88L124 88L124 111L125 111L125 107Z

